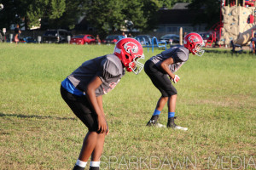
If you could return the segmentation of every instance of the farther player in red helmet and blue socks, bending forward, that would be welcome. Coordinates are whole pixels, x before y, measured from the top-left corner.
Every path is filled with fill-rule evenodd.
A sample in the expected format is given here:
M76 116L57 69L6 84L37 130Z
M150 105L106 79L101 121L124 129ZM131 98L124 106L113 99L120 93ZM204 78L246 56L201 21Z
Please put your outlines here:
M168 102L168 122L167 127L174 129L188 130L187 127L180 127L174 123L175 107L177 99L177 90L172 82L177 83L179 77L174 73L189 59L189 53L201 56L204 50L202 37L195 33L189 33L184 37L184 45L169 48L161 54L151 57L145 63L144 70L153 82L154 86L159 89L161 97L157 102L153 116L148 121L148 126L165 127L157 122L160 112Z

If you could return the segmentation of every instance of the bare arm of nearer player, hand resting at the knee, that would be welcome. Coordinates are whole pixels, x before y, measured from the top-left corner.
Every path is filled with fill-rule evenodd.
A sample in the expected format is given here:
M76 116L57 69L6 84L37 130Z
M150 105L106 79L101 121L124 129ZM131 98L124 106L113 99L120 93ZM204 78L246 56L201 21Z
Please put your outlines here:
M98 121L98 131L101 133L107 133L107 122L103 113L103 107L101 106L102 103L98 102L96 98L96 88L98 88L102 84L102 80L100 77L94 77L92 81L88 84L86 88L86 96L90 100L90 104L92 105L93 109L96 111L97 121ZM100 104L99 104L100 103Z

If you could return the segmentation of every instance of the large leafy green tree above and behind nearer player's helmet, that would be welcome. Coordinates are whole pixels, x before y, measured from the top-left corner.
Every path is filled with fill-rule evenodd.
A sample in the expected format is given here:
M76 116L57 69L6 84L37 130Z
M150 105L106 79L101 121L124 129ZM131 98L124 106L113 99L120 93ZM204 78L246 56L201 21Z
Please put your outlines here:
M119 31L127 24L125 20L132 22L132 28L148 30L155 26L158 8L156 0L84 0L86 20L101 34Z

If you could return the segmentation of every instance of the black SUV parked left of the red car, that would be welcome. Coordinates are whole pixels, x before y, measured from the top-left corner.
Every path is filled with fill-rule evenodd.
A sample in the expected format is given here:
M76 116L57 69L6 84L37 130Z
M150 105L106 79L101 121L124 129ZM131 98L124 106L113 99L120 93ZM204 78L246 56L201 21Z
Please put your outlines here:
M72 34L70 31L67 30L47 30L44 32L43 35L43 42L45 43L64 43L67 42L67 36L72 37Z

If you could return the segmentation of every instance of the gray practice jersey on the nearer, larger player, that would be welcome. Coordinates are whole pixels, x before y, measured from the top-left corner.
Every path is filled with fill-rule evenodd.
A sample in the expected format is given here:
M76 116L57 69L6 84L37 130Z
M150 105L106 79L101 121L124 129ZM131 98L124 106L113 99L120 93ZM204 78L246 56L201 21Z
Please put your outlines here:
M84 92L94 77L100 77L102 85L96 89L96 96L100 96L112 90L124 75L125 69L121 60L113 54L108 54L85 61L67 78L75 88Z

